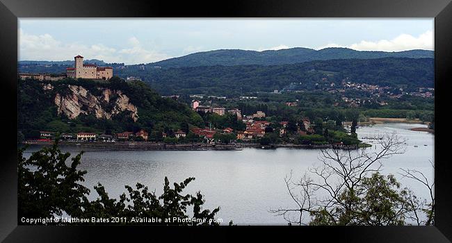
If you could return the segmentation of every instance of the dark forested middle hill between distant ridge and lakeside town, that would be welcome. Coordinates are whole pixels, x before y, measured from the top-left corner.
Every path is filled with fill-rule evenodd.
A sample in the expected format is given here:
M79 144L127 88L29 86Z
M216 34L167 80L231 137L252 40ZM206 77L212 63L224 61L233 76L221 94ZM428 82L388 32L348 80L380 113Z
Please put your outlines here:
M115 75L140 76L161 94L231 95L273 90L315 90L341 81L389 87L433 87L433 58L316 60L291 65L238 65L138 69Z

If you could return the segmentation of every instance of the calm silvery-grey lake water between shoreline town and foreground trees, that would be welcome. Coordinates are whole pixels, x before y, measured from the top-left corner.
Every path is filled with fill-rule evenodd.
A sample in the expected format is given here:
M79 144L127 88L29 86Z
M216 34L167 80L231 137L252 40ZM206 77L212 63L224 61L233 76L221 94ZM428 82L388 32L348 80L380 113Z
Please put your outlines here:
M430 133L410 131L421 124L378 124L357 129L358 137L396 132L406 140L406 152L383 161L382 173L395 174L403 186L412 188L419 196L427 197L428 191L420 183L398 176L400 168L422 171L433 180L434 136ZM371 140L364 140L372 142ZM28 151L38 148L31 146ZM72 155L74 147L62 147ZM367 150L375 150L374 145ZM24 156L28 157L29 153ZM284 176L293 171L293 178L309 167L319 165L319 151L314 149L243 149L242 151L86 151L79 169L87 170L83 183L91 190L102 183L111 197L118 198L126 192L124 185L143 183L163 191L163 178L170 184L195 177L186 188L187 193L198 190L204 195L204 209L220 206L217 217L223 224L230 220L239 225L286 224L281 216L273 216L268 210L279 207L296 208L286 190Z

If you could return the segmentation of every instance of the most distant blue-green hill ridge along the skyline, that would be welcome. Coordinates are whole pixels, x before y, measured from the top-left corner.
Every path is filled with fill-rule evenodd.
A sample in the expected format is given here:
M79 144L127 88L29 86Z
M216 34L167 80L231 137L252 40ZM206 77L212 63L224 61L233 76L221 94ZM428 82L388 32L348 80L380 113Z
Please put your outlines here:
M291 48L277 51L245 51L223 49L192 53L179 58L170 58L150 63L148 67L197 67L234 65L282 65L312 60L330 59L373 59L373 58L433 58L433 51L410 50L398 52L355 51L347 48L325 48L321 50Z

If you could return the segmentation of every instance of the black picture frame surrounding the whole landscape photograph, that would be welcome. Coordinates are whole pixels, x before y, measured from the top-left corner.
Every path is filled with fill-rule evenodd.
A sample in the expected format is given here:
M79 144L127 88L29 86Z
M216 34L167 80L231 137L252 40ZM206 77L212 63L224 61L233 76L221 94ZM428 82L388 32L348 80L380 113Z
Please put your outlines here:
M0 77L3 145L0 162L0 240L4 242L241 241L251 237L339 242L450 242L452 174L447 149L451 101L451 0L317 1L61 1L0 0ZM81 6L88 5L90 8ZM434 17L435 18L435 226L17 226L17 18L20 17ZM442 145L445 145L442 147ZM209 236L205 235L209 233Z

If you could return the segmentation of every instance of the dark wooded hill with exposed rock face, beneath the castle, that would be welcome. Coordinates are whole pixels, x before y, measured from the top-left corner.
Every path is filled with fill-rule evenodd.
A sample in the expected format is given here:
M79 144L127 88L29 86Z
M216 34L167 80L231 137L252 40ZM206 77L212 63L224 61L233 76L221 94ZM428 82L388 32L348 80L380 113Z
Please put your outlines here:
M121 133L145 129L150 134L183 125L202 126L189 106L151 90L139 81L63 79L19 80L18 130L25 138L39 131Z

